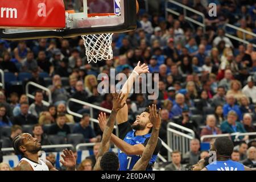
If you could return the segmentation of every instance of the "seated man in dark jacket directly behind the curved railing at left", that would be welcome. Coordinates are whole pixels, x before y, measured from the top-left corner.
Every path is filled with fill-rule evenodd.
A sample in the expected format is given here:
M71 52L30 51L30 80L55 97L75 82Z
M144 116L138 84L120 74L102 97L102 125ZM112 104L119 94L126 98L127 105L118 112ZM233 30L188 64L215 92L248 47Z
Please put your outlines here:
M35 115L35 117L39 118L39 115L43 111L47 111L47 106L43 105L43 92L41 90L37 90L35 92L35 102L30 105L28 111Z

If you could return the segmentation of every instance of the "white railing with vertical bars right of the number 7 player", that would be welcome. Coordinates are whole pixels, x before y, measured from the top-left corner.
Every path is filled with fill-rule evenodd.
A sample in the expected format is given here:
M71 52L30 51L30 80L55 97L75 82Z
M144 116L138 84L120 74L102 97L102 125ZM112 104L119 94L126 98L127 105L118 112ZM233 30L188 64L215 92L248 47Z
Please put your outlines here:
M181 132L185 131L187 134ZM189 151L190 140L195 139L195 132L187 127L169 122L167 124L167 144L172 150L179 150L185 155ZM171 153L168 153L168 161L171 160Z

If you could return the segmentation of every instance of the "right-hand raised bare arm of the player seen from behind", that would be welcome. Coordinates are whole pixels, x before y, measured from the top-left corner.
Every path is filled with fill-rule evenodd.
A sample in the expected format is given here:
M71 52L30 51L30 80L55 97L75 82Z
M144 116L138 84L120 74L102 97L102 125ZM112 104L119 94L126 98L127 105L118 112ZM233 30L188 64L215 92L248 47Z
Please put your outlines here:
M146 170L147 165L150 162L150 159L155 150L156 143L158 141L158 134L159 134L159 129L161 125L161 118L160 118L161 110L159 110L159 113L157 113L156 105L154 104L151 107L149 106L149 110L150 110L150 122L153 125L153 129L152 129L151 137L148 140L148 143L143 151L141 159L139 159L138 162L133 167L134 171Z

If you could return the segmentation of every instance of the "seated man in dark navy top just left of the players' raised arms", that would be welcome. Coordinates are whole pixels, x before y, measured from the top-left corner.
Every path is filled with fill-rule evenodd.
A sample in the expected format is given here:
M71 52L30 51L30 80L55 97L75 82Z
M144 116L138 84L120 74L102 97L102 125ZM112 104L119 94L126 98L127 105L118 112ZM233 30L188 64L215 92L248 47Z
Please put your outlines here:
M100 138L96 137L94 130L90 126L90 115L82 115L81 121L76 123L76 126L73 129L73 133L80 133L84 135L85 142L100 142Z

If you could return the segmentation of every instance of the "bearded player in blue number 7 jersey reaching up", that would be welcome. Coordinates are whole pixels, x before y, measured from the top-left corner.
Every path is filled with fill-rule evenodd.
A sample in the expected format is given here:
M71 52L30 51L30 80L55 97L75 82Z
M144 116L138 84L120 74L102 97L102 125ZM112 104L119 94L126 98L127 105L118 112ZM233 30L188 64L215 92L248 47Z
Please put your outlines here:
M122 102L126 99L133 88L134 81L138 79L142 73L149 73L146 64L140 65L140 61L134 68L133 72L125 82L122 88L122 93L125 95ZM114 134L111 135L111 140L119 148L118 158L121 171L133 169L135 163L141 158L141 155L151 136L152 123L150 122L150 113L148 109L137 116L133 125L128 122L128 107L127 104L122 107L117 113L117 124L119 138ZM147 170L152 170L158 152L162 146L162 141L158 139L154 154L148 164Z

